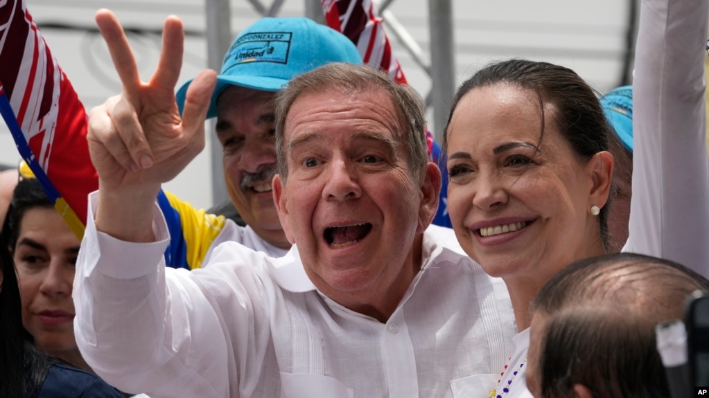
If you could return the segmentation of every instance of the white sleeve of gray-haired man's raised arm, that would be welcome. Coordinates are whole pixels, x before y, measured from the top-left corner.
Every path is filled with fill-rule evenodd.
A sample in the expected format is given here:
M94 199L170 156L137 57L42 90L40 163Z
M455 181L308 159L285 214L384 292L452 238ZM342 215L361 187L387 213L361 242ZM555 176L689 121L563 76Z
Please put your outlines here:
M125 392L228 396L230 342L194 275L165 268L169 233L159 207L152 222L157 241L136 244L96 231L95 200L96 193L73 292L74 333L86 363Z

